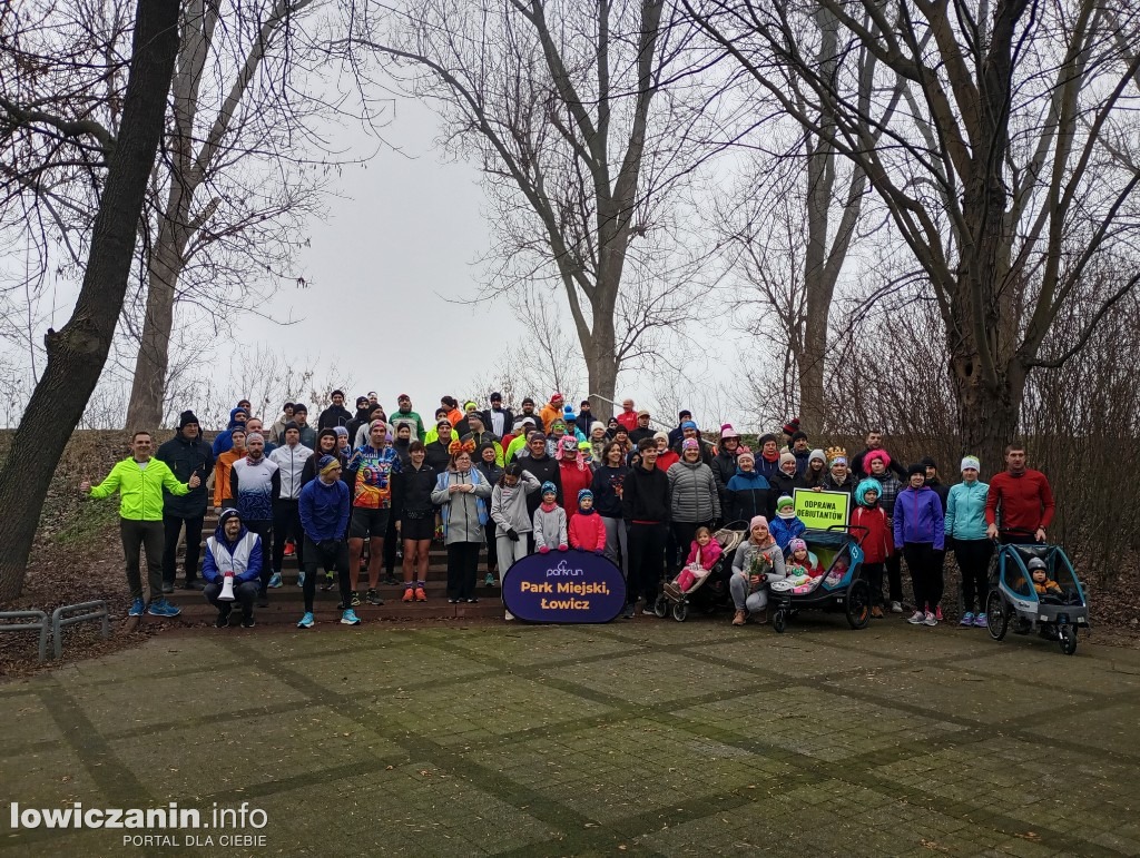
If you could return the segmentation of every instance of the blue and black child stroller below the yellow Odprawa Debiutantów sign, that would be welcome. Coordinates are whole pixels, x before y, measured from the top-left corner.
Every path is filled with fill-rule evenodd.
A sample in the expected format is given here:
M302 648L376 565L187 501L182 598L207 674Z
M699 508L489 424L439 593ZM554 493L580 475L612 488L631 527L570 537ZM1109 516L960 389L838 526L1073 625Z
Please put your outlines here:
M801 608L842 611L853 629L865 628L871 621L871 586L860 577L863 549L858 539L841 524L828 530L809 530L801 539L813 565L824 570L823 575L808 580L787 579L771 587L768 608L773 610L772 628L783 632L788 620Z

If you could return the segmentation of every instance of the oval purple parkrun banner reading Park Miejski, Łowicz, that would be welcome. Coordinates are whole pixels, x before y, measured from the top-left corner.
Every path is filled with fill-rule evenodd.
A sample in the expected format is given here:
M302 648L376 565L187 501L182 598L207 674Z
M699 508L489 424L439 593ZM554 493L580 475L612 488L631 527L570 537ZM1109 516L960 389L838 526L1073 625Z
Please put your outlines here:
M527 622L610 622L626 604L626 582L592 551L531 554L507 570L503 603Z

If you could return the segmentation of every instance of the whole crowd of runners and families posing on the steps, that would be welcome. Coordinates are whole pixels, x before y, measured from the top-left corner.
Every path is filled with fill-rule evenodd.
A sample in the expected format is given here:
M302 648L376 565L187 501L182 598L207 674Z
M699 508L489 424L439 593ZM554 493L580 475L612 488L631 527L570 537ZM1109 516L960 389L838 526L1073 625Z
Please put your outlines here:
M640 600L644 613L653 613L663 581L682 581L684 570L707 571L716 553L711 534L736 522L748 539L732 562L733 622L763 622L771 585L812 572L804 567L804 525L795 510L799 489L850 497L849 524L863 548L873 616L903 612L905 561L914 594L910 622L936 624L952 547L962 571L961 623L984 627L993 540L1000 531L1043 540L1053 515L1049 483L1026 467L1018 444L1007 449L1005 471L988 484L978 479L980 463L967 456L961 482L950 487L929 457L903 467L879 431L869 432L866 449L848 461L841 448L812 449L796 419L782 433L760 436L752 451L728 424L706 438L687 410L668 432L653 428L650 412L629 399L619 414L597 419L588 400L575 411L560 393L542 407L523 399L518 415L499 393L486 409L442 397L426 425L407 394L391 414L375 393L359 397L355 414L342 391L331 400L316 428L301 403L286 402L266 428L249 401L238 402L212 444L194 412L184 411L174 436L154 456L149 433L137 432L130 458L99 485L82 484L91 497L116 489L122 496L131 614L177 615L166 595L174 589L185 530L184 587L204 591L219 627L229 624L235 604L242 623L252 626L254 605L283 586L283 558L293 553L304 602L301 628L315 624L318 581L324 589L339 586L347 624L359 623L353 608L363 600L383 604L378 588L385 582L402 588L404 602L425 602L434 539L446 546L451 603L475 600L484 546L488 585L530 553L580 549L621 569L624 615L633 618ZM219 523L206 540L203 583L198 539L211 504ZM402 580L394 575L400 557Z

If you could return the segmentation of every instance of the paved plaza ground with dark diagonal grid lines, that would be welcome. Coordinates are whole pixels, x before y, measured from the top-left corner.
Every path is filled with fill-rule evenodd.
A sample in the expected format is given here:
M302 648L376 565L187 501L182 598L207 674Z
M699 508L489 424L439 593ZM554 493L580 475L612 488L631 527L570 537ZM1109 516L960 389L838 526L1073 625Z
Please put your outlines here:
M268 815L202 853L1137 855L1138 703L1140 652L896 621L234 629L0 685L0 784Z

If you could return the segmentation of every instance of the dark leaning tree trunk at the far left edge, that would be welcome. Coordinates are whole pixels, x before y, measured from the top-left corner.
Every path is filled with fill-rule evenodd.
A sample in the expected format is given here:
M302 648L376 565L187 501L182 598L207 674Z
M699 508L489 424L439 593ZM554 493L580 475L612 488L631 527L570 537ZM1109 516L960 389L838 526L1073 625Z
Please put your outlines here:
M44 336L48 363L0 468L0 604L16 598L40 510L111 351L135 258L178 51L179 0L139 0L119 139L71 319ZM91 475L95 476L95 475Z

